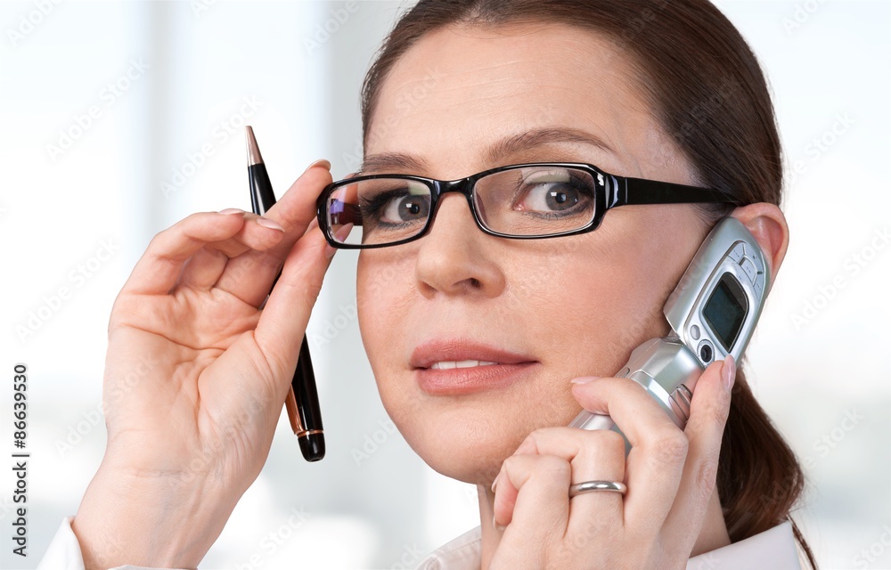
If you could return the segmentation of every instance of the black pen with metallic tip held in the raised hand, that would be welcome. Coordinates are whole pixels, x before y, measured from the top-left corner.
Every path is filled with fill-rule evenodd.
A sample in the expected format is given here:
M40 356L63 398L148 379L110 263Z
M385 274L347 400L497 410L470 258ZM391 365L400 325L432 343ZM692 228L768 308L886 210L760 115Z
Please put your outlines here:
M273 185L269 182L266 165L260 156L254 129L245 126L248 141L248 179L250 181L250 207L254 214L263 216L275 203ZM278 277L275 278L278 281ZM275 287L275 282L273 283ZM313 361L309 357L307 335L303 335L297 370L291 380L290 390L284 401L288 409L290 428L298 437L300 451L307 461L318 461L325 456L325 436L322 428L322 411L319 408L319 395L315 389Z

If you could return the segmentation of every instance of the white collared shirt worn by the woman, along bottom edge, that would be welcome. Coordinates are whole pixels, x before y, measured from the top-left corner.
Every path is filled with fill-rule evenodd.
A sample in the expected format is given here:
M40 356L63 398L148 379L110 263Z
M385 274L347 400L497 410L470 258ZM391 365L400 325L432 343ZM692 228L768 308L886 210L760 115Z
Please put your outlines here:
M71 530L71 517L62 521L37 570L84 570L78 537ZM434 550L421 560L418 570L478 570L482 564L479 527ZM788 522L734 542L718 550L691 558L687 570L801 570L792 525ZM110 570L155 570L145 566L116 566Z

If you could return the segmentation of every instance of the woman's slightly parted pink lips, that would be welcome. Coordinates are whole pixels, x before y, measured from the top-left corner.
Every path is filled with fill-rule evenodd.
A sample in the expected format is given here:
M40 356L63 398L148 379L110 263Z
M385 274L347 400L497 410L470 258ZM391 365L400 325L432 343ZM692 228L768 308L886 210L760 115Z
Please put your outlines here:
M409 363L418 385L430 395L465 395L506 387L538 362L462 338L422 342Z

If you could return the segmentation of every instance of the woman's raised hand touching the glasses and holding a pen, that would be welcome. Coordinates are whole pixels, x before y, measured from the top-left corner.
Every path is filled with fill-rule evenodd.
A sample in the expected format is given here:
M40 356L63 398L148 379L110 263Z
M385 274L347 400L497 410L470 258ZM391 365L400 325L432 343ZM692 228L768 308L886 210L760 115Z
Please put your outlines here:
M108 445L73 525L87 568L198 566L257 477L333 254L315 224L329 168L262 218L189 216L136 264L110 318Z

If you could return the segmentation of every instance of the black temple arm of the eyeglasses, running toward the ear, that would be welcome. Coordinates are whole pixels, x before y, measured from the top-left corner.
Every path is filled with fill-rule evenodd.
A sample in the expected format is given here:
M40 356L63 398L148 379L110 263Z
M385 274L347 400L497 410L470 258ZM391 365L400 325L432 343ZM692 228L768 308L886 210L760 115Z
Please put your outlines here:
M735 200L723 191L641 178L608 175L607 209L631 204L732 203Z

